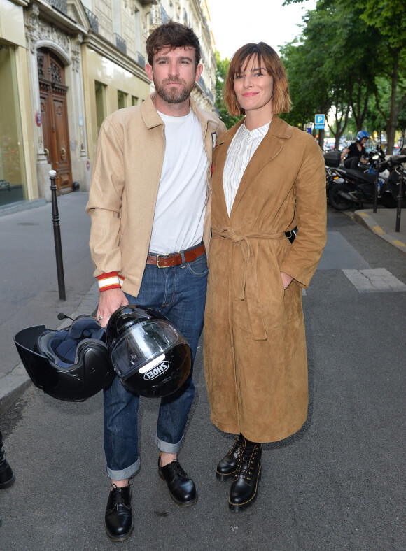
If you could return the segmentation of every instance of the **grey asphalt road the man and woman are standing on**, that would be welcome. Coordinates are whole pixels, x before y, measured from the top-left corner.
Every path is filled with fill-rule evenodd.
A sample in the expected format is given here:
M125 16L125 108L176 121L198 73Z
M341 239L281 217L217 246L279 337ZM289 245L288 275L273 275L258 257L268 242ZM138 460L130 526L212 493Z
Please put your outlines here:
M406 550L406 257L342 213L330 210L328 230L303 297L309 418L293 437L264 446L251 508L230 512L230 482L214 477L232 436L209 422L200 348L180 455L197 484L197 504L176 506L158 477L158 403L144 400L134 534L111 543L102 396L62 403L31 387L1 419L17 480L0 490L0 549Z

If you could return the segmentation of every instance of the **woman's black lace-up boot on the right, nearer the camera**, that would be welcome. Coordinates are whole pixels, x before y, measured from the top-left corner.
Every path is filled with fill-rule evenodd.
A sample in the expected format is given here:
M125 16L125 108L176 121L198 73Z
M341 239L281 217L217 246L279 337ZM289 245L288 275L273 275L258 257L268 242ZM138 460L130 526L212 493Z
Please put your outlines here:
M228 506L235 513L250 506L258 494L261 476L262 445L244 443L239 452L237 472L230 489Z

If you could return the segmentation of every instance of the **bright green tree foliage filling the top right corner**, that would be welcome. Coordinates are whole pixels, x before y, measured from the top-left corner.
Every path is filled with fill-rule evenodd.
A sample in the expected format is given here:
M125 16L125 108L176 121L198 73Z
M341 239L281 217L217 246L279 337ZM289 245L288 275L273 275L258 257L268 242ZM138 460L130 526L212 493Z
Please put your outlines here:
M302 0L285 1L286 4L297 2ZM404 0L364 0L362 3L318 0L315 11L323 10L330 10L332 15L321 29L321 34L332 40L325 41L320 36L325 75L331 76L330 67L342 78L358 129L363 127L367 113L373 113L374 109L380 113L390 152L395 129L399 127L398 117L406 103L406 3ZM310 45L306 29L303 43ZM386 88L383 78L388 82L389 95L382 93ZM328 78L326 87L331 84ZM332 105L334 103L337 100ZM378 123L379 117L375 118ZM369 119L371 121L371 117Z

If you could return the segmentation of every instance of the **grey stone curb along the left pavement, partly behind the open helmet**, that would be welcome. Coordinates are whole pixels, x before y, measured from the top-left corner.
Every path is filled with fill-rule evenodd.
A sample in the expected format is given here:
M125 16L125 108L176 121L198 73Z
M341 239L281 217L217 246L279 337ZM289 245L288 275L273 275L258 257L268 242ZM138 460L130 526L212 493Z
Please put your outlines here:
M95 282L89 291L83 297L77 310L71 313L73 319L80 314L94 313L94 308L99 302L99 285ZM69 325L70 320L64 320L57 329L62 329ZM0 388L0 416L6 413L8 408L21 396L21 394L32 385L31 379L25 371L25 367L20 362L15 368L1 379Z

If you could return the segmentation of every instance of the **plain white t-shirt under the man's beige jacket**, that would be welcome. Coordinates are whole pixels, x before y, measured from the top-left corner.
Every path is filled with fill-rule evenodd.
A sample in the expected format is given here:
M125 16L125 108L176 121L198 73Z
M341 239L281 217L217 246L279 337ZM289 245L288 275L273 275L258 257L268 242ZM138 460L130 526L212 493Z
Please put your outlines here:
M193 110L184 117L158 114L165 122L165 156L149 250L165 254L202 241L209 162Z

